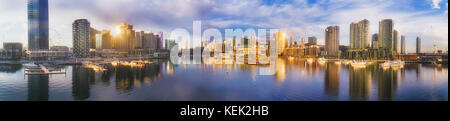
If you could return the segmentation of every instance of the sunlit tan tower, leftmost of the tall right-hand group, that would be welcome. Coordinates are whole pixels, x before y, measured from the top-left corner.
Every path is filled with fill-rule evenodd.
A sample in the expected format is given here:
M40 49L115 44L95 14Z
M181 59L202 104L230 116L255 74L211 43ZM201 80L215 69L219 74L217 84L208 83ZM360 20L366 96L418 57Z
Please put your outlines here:
M339 56L339 26L329 26L325 30L325 51L328 56Z

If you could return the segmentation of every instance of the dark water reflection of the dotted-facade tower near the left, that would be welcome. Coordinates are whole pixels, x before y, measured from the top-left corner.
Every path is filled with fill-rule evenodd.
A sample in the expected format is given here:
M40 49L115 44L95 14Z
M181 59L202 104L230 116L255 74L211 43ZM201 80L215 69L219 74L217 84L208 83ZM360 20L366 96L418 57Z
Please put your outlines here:
M94 82L95 74L91 69L82 66L72 67L72 96L75 100L84 100L90 96L90 82Z

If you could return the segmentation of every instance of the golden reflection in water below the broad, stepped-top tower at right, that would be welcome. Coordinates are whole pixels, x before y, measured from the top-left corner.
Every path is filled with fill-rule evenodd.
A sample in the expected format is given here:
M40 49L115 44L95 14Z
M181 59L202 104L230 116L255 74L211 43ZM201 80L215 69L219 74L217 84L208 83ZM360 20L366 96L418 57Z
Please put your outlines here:
M367 68L353 68L349 70L349 94L351 100L369 100L370 72Z

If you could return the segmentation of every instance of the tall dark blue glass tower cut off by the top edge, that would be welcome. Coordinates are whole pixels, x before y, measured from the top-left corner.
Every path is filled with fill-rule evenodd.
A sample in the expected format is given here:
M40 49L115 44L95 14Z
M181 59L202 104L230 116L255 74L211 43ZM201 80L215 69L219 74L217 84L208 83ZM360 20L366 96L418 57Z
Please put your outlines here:
M28 0L28 49L48 50L48 0Z

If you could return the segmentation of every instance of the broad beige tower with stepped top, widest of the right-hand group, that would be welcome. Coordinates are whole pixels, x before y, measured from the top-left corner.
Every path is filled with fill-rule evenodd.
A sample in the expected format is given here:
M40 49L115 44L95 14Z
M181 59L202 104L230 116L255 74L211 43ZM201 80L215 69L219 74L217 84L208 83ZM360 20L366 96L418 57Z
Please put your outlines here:
M367 19L350 24L350 48L366 49L370 47L369 24Z

